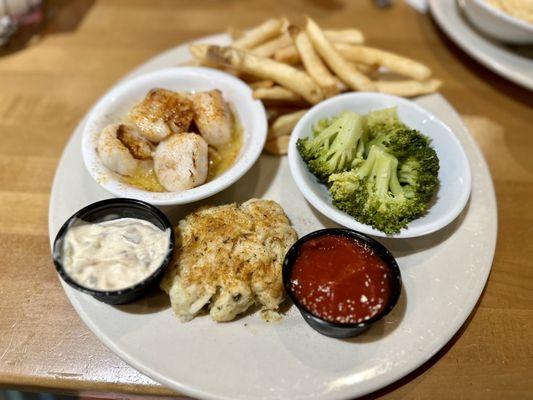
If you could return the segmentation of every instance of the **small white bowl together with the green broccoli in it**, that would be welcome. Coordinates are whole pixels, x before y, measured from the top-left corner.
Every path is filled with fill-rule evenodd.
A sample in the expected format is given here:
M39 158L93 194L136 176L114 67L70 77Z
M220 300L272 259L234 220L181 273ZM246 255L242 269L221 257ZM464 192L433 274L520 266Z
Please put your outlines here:
M289 144L292 176L323 215L374 236L435 232L464 209L470 165L453 132L412 101L348 93L307 112Z

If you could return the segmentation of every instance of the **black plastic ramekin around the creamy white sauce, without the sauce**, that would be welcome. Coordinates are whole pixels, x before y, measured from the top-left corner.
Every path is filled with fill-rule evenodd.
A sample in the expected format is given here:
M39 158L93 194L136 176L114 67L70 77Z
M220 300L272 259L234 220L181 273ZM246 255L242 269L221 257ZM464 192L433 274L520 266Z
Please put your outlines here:
M102 221L110 221L118 218L138 218L151 222L161 230L170 229L170 241L168 251L165 259L155 270L152 275L148 276L143 281L136 283L120 290L103 291L86 288L76 283L65 271L62 264L63 240L69 228L79 224L80 222L97 223ZM174 251L174 231L168 218L156 207L140 200L116 198L109 200L102 200L90 204L82 208L72 217L70 217L59 230L55 240L52 257L59 276L80 292L90 294L95 299L103 301L108 304L124 304L132 302L142 295L144 295L153 286L159 283L170 260L172 259L172 252Z

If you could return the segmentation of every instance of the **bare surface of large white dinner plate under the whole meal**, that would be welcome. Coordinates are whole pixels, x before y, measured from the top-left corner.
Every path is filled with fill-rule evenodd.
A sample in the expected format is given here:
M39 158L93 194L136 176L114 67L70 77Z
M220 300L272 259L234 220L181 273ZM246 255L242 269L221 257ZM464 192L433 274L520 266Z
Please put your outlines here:
M226 36L209 38L221 44L227 40ZM186 47L180 46L135 73L176 65L187 58ZM395 310L363 335L350 340L321 336L294 307L280 323L267 324L252 314L230 323L196 318L182 324L162 294L112 307L64 285L72 305L123 360L191 396L353 398L405 376L429 360L467 319L489 275L497 230L491 177L474 140L440 95L417 102L442 119L461 141L471 165L472 194L458 220L438 233L419 239L381 240L398 259L405 290ZM51 240L73 212L109 197L83 166L82 128L83 122L67 144L54 179ZM239 182L208 201L244 201L254 196L280 202L300 235L334 226L296 190L286 158L261 156ZM192 207L165 211L176 221Z

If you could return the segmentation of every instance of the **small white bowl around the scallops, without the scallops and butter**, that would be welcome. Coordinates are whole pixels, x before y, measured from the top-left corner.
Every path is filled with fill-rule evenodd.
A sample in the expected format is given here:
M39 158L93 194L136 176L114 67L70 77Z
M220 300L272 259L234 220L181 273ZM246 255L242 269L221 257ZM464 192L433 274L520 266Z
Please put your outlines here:
M96 151L102 129L121 121L131 107L149 90L165 88L192 92L219 89L232 105L242 126L243 144L235 163L210 182L181 192L149 192L125 184L101 162ZM154 205L186 204L212 196L241 178L257 161L267 135L263 104L254 100L252 90L240 79L210 68L167 68L118 83L89 111L82 139L83 161L98 184L115 196L144 200Z

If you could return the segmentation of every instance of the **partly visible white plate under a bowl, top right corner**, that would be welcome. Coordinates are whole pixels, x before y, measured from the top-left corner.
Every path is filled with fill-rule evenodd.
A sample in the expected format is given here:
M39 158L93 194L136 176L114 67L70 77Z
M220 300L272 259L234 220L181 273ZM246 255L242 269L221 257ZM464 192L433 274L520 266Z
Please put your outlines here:
M480 34L461 14L456 0L429 0L431 14L464 51L510 81L533 90L533 59Z

